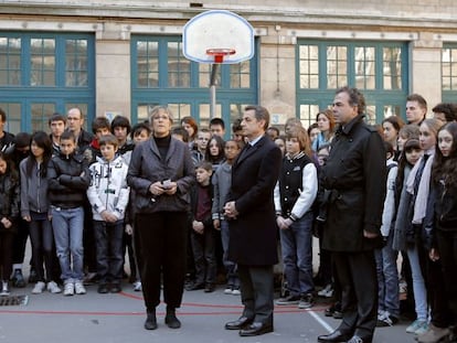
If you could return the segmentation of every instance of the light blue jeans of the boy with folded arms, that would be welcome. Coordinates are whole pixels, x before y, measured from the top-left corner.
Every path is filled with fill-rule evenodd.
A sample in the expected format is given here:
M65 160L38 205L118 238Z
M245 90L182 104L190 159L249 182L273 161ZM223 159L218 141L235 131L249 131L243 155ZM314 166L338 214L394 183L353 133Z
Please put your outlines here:
M64 283L83 280L83 207L60 208L51 206L55 248ZM72 268L73 262L73 268Z

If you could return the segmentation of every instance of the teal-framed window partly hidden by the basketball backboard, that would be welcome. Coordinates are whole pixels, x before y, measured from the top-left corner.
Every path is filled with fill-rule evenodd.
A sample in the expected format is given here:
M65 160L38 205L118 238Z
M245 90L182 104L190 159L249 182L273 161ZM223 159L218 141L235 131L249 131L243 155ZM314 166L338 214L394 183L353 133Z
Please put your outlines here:
M257 103L255 58L238 64L221 64L213 71L211 64L191 62L183 56L181 36L132 36L131 72L134 124L147 119L155 105L168 105L173 112L174 125L182 117L192 116L205 127L213 115L225 121L228 138L233 118L241 114L238 104ZM213 72L215 114L211 114L209 92Z

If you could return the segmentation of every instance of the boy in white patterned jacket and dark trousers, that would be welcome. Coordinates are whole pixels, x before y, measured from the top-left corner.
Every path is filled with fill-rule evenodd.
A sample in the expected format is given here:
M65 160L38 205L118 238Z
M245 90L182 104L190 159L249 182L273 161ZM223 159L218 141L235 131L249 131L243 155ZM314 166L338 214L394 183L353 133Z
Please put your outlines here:
M130 189L127 185L128 164L116 158L115 136L99 139L102 159L89 167L91 186L87 199L92 205L97 247L98 292L121 291L124 215Z

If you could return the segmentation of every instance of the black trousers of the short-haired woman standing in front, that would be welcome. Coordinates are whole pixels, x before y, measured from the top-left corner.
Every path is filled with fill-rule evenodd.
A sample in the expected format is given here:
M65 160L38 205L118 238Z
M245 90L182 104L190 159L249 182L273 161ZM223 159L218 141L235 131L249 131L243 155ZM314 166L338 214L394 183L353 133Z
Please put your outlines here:
M181 306L185 277L185 212L157 212L135 217L141 240L141 285L148 311L153 311L160 303L161 275L164 302L170 308Z

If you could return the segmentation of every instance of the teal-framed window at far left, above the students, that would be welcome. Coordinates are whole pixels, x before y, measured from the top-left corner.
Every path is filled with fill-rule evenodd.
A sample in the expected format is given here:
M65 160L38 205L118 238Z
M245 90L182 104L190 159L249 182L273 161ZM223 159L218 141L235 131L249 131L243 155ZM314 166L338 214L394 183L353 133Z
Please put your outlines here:
M47 130L49 117L83 108L85 124L95 110L95 49L91 34L0 32L0 106L8 129Z

